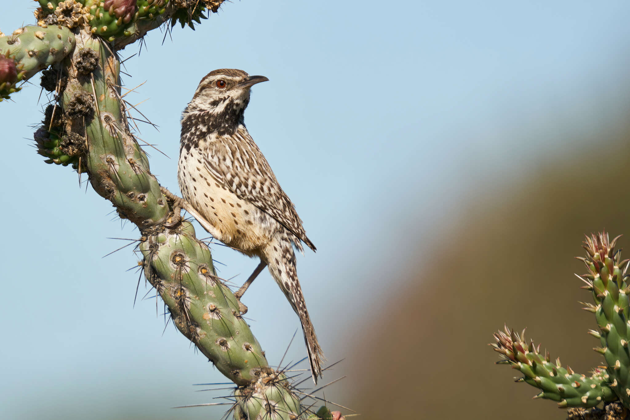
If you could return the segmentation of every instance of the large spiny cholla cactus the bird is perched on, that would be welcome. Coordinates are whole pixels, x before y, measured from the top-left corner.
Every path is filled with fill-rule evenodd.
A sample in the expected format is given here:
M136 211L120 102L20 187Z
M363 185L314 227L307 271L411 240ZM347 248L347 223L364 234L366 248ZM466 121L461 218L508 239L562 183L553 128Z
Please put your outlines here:
M95 191L140 230L139 265L171 320L235 384L234 419L331 419L311 411L265 352L217 278L207 244L149 169L127 122L120 48L160 25L192 26L222 0L38 0L37 25L0 34L0 100L40 71L52 105L33 136L45 162L86 173Z

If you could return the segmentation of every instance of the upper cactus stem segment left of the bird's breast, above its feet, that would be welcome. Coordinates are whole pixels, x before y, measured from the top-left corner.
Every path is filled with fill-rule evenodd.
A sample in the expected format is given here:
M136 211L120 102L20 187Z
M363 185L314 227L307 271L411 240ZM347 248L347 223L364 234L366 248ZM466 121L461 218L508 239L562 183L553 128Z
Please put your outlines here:
M146 154L127 127L120 97L120 62L98 37L83 34L77 42L72 62L85 59L86 48L91 48L98 67L89 77L75 65L67 67L68 81L60 98L62 132L86 138L89 179L97 193L114 203L121 217L141 227L159 224L166 220L169 209L157 179L149 172Z

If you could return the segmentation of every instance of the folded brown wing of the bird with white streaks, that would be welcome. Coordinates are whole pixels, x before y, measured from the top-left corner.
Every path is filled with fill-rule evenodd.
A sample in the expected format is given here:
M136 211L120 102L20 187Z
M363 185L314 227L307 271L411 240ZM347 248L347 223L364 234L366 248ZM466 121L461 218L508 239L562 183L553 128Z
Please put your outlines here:
M217 181L272 216L315 251L294 204L280 188L272 168L246 128L239 127L236 133L209 142L204 157L204 166Z

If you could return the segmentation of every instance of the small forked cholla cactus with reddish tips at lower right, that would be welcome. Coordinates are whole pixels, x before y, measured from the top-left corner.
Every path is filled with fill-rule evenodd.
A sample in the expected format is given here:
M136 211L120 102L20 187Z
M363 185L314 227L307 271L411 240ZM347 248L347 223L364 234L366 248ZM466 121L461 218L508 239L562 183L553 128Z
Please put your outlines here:
M588 270L578 276L585 283L581 288L590 291L594 301L583 309L595 314L598 326L588 334L599 339L600 346L594 350L604 356L605 368L595 368L587 377L563 368L559 359L552 363L549 353L542 355L540 345L525 341L525 331L517 334L505 327L494 334L496 343L491 346L503 356L497 363L519 370L524 376L517 382L538 388L541 392L536 397L558 401L561 408L595 407L616 400L630 408L630 286L625 280L630 260L622 261L621 249L615 250L619 237L610 241L605 232L587 236L583 245L587 256L578 257Z

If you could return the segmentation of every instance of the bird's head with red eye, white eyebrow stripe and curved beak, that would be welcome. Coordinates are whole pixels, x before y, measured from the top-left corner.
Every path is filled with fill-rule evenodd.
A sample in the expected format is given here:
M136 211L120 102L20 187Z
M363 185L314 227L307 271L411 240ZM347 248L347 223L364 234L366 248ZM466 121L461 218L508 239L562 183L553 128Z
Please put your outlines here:
M221 115L226 111L242 112L249 103L251 86L268 80L265 76L249 76L238 69L211 71L199 82L188 108L210 111L215 115Z

